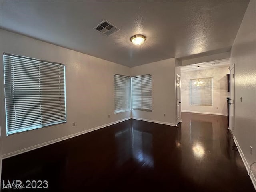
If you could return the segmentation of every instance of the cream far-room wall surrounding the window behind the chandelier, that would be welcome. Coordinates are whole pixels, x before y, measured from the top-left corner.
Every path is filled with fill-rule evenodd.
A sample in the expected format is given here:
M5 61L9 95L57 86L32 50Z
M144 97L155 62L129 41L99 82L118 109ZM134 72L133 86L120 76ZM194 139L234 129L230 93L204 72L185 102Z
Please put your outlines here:
M226 98L229 97L227 74L229 74L228 67L199 70L199 78L213 78L212 106L199 106L190 105L190 79L197 78L197 71L181 72L181 110L184 112L226 115Z

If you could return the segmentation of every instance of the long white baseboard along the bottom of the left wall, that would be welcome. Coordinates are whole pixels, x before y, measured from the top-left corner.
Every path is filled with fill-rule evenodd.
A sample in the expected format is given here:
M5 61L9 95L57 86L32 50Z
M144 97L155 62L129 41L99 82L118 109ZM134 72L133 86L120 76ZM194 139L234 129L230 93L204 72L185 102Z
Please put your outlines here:
M14 152L10 152L8 154L2 155L0 160L6 159L6 158L9 158L9 157L18 155L18 154L22 154L22 153L25 153L25 152L28 152L28 151L31 151L31 150L34 150L34 149L37 149L37 148L40 148L40 147L44 147L44 146L47 146L47 145L50 145L50 144L54 144L56 142L60 142L60 141L66 140L66 139L70 139L72 137L76 137L76 136L79 136L79 135L82 135L82 134L85 134L85 133L88 133L88 132L91 132L91 131L94 131L94 130L97 130L97 129L101 129L101 128L104 128L104 127L107 127L107 126L110 126L110 125L113 125L113 124L116 124L116 123L120 123L120 122L129 120L129 119L131 119L131 118L128 117L128 118L125 118L125 119L122 119L122 120L118 120L118 121L115 121L115 122L104 124L104 125L101 125L101 126L98 126L98 127L94 127L94 128L88 129L88 130L84 130L84 131L74 133L74 134L71 134L71 135L68 135L68 136L64 136L64 137L61 137L61 138L58 138L58 139L54 139L54 140L51 140L51 141L48 141L48 142L40 143L40 144L31 146L31 147L28 147L28 148L24 148L24 149L20 149L20 150L14 151Z

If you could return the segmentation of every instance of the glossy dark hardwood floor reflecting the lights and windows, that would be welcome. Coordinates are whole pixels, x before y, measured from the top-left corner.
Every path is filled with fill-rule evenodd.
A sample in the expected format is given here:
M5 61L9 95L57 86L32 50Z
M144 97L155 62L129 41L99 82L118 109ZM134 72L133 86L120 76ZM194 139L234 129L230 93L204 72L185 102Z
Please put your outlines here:
M226 124L188 113L178 127L127 120L4 159L2 180L47 180L38 191L54 192L254 192Z

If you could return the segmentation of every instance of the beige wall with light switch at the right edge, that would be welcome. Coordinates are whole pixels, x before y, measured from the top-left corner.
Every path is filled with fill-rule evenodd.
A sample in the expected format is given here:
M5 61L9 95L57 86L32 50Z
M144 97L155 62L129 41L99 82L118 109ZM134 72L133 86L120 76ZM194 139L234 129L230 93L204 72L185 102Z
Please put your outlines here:
M247 168L256 161L256 2L250 1L231 49L235 64L234 137ZM240 98L242 97L242 102ZM250 146L253 147L252 155ZM256 164L252 166L256 177ZM256 180L254 186L256 187Z

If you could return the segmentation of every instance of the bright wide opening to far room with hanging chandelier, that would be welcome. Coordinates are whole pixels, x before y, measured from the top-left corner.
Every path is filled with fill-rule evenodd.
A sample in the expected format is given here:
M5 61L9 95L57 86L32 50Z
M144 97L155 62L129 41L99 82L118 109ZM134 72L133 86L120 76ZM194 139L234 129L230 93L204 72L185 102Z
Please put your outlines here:
M229 59L181 66L181 112L227 116L229 66Z

